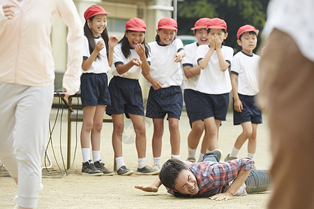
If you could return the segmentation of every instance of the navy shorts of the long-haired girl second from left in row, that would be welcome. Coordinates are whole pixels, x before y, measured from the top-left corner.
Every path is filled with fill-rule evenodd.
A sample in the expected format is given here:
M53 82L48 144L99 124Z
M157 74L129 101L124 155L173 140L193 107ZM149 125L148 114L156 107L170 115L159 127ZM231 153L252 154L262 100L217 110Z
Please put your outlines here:
M144 116L142 89L137 79L114 76L110 80L109 91L111 105L107 106L106 114L128 114Z

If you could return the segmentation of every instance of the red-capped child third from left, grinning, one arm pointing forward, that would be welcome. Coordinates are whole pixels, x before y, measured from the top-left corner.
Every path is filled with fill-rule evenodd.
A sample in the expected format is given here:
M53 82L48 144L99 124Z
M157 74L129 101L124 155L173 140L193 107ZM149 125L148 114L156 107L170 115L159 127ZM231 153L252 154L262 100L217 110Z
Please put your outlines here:
M180 133L179 118L182 111L182 70L180 62L185 56L183 43L175 38L177 22L165 17L158 22L156 41L150 42L151 70L146 76L149 86L146 116L153 118L154 135L152 140L154 167L161 167L161 145L163 121L167 114L170 130L172 158L179 159Z

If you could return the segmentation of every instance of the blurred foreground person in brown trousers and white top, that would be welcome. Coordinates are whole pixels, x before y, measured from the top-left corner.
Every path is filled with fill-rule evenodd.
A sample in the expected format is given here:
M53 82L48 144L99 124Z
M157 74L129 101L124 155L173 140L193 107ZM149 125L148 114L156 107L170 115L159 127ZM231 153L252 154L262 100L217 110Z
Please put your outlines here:
M269 2L259 65L274 157L269 208L314 208L313 11L313 0Z

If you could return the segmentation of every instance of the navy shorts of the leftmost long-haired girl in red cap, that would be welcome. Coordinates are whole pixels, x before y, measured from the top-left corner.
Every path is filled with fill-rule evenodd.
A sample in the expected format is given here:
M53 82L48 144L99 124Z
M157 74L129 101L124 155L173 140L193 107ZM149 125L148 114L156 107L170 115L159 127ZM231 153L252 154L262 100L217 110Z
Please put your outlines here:
M81 76L82 107L110 104L106 73L83 73Z

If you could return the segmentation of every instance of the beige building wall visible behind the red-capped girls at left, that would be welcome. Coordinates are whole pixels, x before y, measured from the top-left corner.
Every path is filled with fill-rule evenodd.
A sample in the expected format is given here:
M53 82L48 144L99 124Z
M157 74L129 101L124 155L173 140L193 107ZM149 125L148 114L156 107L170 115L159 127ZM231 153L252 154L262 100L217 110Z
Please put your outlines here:
M84 11L93 4L98 4L105 8L108 13L108 33L109 36L117 36L121 39L124 36L124 24L132 17L139 17L147 24L145 41L155 40L158 20L163 17L172 17L172 0L74 0L77 11L84 24ZM54 18L52 27L52 55L54 56L56 68L55 86L61 88L61 78L66 70L68 61L68 49L66 45L67 26L59 17ZM112 77L108 73L108 77ZM146 79L141 77L140 85L143 91L144 100L147 99L148 91Z

